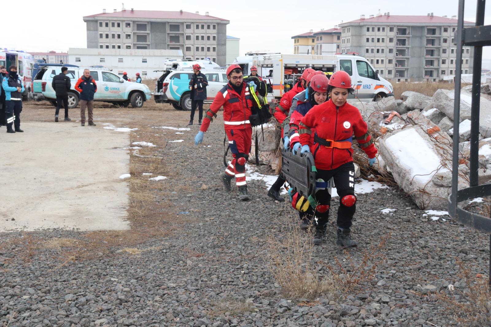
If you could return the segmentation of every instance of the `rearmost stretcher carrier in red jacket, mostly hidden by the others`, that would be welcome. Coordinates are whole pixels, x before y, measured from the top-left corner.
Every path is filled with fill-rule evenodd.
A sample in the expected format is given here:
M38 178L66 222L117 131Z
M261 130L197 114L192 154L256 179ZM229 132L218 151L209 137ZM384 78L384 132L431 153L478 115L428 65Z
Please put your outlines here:
M297 84L295 84L290 91L283 94L279 105L274 109L274 118L276 118L280 125L283 123L283 120L285 120L286 116L288 115L290 107L292 106L293 97L296 96L297 93L303 91L305 87L307 87L307 76L313 72L315 72L315 70L313 70L312 68L305 69L300 77L300 81L297 82ZM281 129L280 135L283 135L283 129ZM278 178L276 178L276 181L273 183L270 190L268 191L268 196L271 197L273 200L279 202L285 201L285 199L279 195L279 190L281 189L283 184L285 184L285 177L283 176L283 174L280 173L278 175Z

